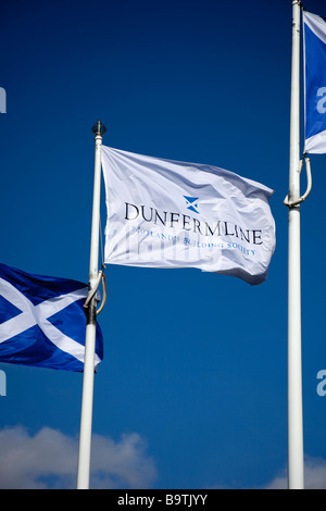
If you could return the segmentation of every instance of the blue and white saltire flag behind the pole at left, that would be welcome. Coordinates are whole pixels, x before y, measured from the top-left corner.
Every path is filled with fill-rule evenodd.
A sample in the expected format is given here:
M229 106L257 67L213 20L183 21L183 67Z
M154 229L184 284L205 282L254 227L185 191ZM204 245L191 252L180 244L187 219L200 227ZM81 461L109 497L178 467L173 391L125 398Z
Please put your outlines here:
M0 362L84 370L87 285L0 263ZM103 358L97 325L95 370Z

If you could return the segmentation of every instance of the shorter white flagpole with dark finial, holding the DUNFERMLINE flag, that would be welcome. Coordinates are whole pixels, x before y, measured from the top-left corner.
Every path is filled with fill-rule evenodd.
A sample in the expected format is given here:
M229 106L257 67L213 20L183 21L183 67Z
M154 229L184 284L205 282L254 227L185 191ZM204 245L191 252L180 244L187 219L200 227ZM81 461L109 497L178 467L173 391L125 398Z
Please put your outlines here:
M101 124L100 121L92 127L92 132L95 134L96 154L95 154L95 177L93 177L93 199L92 199L92 222L91 222L91 238L90 238L90 260L89 260L89 290L90 291L96 286L96 283L98 279L100 192L101 192L101 151L102 151L102 135L104 135L105 130L106 130L105 126ZM91 299L87 308L77 489L89 488L96 329L97 329L97 301L96 301L96 295L95 295L95 297Z

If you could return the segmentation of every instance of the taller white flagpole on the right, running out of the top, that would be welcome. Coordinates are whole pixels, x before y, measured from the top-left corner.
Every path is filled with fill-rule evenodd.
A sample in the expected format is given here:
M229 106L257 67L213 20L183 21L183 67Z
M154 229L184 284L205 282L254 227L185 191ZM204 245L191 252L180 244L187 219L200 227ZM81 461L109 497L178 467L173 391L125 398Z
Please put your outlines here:
M292 1L292 71L289 171L288 252L288 487L303 489L303 419L301 361L300 261L300 15L301 2Z

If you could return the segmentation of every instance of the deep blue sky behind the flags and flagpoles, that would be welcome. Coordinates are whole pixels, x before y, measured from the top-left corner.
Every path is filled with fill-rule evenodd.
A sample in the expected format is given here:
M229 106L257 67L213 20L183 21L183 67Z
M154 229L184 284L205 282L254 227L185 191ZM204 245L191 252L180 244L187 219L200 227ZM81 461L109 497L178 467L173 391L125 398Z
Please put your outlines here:
M304 7L326 14L321 0ZM98 119L106 146L216 165L275 189L276 251L260 286L106 266L91 486L284 485L291 2L12 1L1 18L2 263L88 281ZM326 369L326 155L311 163L301 215L304 452L309 485L326 487L326 397L316 391ZM103 186L101 210L104 228ZM0 486L75 487L83 375L0 369Z

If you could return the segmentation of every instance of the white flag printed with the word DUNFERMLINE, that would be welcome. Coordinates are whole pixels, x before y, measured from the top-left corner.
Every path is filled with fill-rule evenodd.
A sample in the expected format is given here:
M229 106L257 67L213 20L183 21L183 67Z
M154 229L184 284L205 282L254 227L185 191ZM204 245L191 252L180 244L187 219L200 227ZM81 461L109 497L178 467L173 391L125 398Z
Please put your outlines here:
M265 281L275 249L273 190L216 166L109 147L102 167L106 263Z

